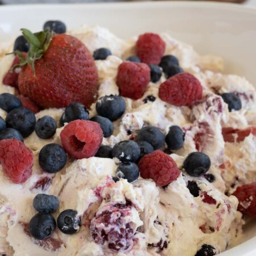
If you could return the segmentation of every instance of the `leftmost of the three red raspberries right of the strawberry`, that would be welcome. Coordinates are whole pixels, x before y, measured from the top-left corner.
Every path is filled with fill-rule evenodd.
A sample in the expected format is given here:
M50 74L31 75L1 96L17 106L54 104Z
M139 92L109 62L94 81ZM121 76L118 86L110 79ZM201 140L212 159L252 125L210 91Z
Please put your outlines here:
M150 68L144 63L124 61L118 67L117 86L123 97L141 98L150 82Z

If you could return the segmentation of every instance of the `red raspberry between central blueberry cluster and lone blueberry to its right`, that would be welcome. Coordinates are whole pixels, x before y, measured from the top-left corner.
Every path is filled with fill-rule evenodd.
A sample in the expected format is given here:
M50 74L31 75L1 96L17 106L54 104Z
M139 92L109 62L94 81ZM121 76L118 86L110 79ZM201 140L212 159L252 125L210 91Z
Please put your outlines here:
M138 167L144 179L154 180L159 187L171 183L180 175L174 159L160 150L143 156Z

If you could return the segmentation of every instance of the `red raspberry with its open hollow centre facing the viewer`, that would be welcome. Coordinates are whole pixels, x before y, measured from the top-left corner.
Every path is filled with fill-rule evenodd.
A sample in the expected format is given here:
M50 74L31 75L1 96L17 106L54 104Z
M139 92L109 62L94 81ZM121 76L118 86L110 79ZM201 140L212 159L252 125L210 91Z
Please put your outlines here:
M72 121L60 133L62 146L75 159L94 156L101 146L102 138L100 124L87 120Z

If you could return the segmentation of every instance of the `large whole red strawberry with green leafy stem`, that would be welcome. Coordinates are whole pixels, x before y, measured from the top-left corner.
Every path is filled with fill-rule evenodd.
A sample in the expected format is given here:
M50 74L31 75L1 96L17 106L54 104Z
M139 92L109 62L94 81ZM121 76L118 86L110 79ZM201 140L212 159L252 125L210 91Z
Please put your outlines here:
M20 61L20 93L43 108L62 108L71 102L89 107L96 99L98 75L85 45L66 34L22 31L30 49Z

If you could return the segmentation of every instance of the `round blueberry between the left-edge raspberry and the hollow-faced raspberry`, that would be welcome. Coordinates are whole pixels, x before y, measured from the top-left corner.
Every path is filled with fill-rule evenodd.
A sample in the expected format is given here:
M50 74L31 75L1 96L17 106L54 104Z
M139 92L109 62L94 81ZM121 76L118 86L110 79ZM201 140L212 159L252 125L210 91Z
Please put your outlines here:
M47 144L39 152L39 166L50 174L60 171L66 162L67 154L59 144Z

